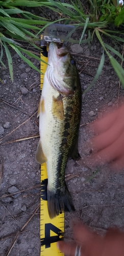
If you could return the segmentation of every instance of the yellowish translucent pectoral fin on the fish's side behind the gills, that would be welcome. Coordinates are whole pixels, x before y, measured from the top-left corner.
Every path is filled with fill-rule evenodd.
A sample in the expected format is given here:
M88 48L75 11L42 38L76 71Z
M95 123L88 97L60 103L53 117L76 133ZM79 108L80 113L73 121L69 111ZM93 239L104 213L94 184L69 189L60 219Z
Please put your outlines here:
M60 120L63 120L64 118L64 108L61 95L59 95L57 98L53 97L52 114Z

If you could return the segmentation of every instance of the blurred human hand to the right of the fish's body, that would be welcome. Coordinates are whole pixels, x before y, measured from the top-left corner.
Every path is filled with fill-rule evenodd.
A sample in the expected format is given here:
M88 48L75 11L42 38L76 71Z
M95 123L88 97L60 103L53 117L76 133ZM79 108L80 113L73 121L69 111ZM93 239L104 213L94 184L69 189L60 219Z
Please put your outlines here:
M96 162L111 162L115 169L124 166L124 104L101 120L94 121L94 132L98 135L91 139ZM100 160L101 159L101 160Z

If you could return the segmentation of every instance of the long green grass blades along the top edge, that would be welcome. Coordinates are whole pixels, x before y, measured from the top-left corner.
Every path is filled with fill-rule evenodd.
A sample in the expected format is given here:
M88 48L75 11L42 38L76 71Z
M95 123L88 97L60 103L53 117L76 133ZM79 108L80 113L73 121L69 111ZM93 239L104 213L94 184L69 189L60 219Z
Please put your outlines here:
M36 54L25 50L22 47L22 42L26 41L30 46L40 50L36 44L36 40L38 40L39 35L44 28L52 23L51 20L34 15L29 11L25 11L24 7L28 7L29 10L30 7L45 7L47 9L51 9L58 14L58 17L61 15L61 18L54 22L75 25L76 30L80 28L80 30L82 30L82 34L79 40L74 40L71 37L69 39L65 39L72 43L83 44L88 42L90 45L93 41L94 35L97 37L104 49L104 52L90 88L101 74L106 55L119 77L121 84L124 86L124 70L119 64L119 62L124 59L121 53L117 50L117 46L123 46L124 42L124 7L119 5L119 2L116 0L89 0L87 11L81 0L70 1L70 4L61 3L60 1L55 0L0 1L0 62L4 65L2 57L3 49L5 49L12 81L13 68L10 47L12 47L15 52L17 52L19 56L29 64L29 66L39 71L29 59L24 57L23 53L28 54L31 57L35 57L37 60L40 60L40 58ZM87 39L84 39L85 31L88 31ZM103 38L106 37L114 42L115 49L105 43ZM115 58L112 56L111 52L115 54Z

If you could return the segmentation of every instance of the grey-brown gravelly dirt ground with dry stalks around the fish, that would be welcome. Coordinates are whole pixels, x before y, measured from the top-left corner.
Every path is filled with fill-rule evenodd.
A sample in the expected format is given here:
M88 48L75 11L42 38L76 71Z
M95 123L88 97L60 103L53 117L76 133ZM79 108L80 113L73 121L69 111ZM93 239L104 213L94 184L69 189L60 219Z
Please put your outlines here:
M87 35L86 33L85 38ZM75 32L73 37L78 36ZM108 38L104 40L109 44ZM103 50L95 38L90 49L88 44L81 47L79 54L76 52L77 46L70 51L75 52L73 56L80 72L82 90L85 90L96 73ZM3 166L0 187L0 255L8 255L9 247L17 234L17 241L9 255L39 256L40 165L36 162L35 155L39 140L37 109L40 100L40 75L28 67L15 52L12 52L12 56L14 82L11 82L8 69L2 67L1 78L4 84L0 83L1 171ZM38 61L31 60L37 68L40 67ZM7 64L6 58L4 62ZM124 172L110 172L107 164L93 168L90 146L86 146L86 141L93 136L87 123L104 116L106 106L108 110L117 107L118 84L119 80L106 58L102 75L94 87L82 96L79 133L81 160L75 162L70 159L66 167L66 175L70 175L67 186L76 208L75 212L65 213L66 239L72 238L71 224L75 219L80 219L102 234L110 226L124 227ZM120 96L122 95L123 89L120 88ZM28 137L30 138L26 139ZM15 142L22 138L25 139ZM27 222L26 227L23 227Z

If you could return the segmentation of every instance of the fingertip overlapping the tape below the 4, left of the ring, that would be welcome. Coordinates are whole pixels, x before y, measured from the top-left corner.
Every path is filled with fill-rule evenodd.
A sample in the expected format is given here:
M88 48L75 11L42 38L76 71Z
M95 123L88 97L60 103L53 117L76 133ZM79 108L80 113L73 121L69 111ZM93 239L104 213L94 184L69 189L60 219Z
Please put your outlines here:
M67 243L64 241L57 242L57 247L60 251L64 252L67 256L75 256L76 244Z

